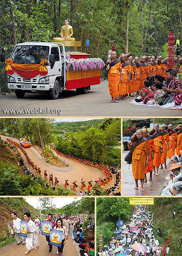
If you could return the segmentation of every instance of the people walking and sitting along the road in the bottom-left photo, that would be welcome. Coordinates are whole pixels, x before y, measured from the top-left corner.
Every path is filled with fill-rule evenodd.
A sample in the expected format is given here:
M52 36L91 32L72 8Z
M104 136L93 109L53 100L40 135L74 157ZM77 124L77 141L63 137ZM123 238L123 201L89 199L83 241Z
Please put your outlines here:
M21 237L20 231L21 231L21 219L18 218L16 212L11 213L11 217L13 219L13 227L12 229L15 230L15 239L17 240L17 245L22 244L26 245L27 251L25 254L28 254L31 252L31 250L37 250L40 242L38 235L40 234L40 227L41 222L38 218L38 216L35 216L35 220L31 220L30 212L24 213L24 220L28 222L28 228L27 228L27 237ZM63 254L63 247L66 244L66 240L68 239L68 233L72 229L72 238L76 243L79 244L80 247L80 254L81 256L94 256L94 236L90 235L89 237L83 237L83 224L87 220L88 216L86 214L84 215L59 215L59 214L52 214L49 213L47 216L45 216L45 220L52 222L52 229L63 231L62 234L62 241L61 241L61 247L57 247L57 254L58 256L62 256ZM85 235L90 230L90 224L87 225L87 228L85 228ZM46 241L49 245L49 252L52 252L53 245L50 243L50 237L45 236Z

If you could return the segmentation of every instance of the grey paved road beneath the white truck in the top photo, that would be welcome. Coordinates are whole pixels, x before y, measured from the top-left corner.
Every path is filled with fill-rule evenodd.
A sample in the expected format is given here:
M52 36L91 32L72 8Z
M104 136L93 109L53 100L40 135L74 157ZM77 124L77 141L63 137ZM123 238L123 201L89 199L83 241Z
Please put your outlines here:
M0 116L55 116L55 117L108 117L108 116L182 116L182 111L161 109L159 107L136 106L130 104L131 98L118 103L109 103L111 100L108 81L102 81L100 85L91 86L88 94L76 94L76 90L63 91L57 100L49 100L46 94L34 93L25 94L19 99L15 94L0 96ZM54 113L29 113L25 114L24 109L34 108L61 109L61 115ZM3 109L22 109L20 114L5 114Z

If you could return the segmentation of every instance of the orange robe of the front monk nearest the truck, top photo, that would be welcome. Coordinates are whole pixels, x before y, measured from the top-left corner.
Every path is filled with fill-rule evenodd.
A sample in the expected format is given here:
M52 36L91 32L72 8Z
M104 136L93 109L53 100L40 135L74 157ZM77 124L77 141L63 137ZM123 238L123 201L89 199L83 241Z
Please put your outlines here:
M119 71L122 71L121 62L112 66L108 72L109 93L112 98L117 98L119 95L119 84L121 84L121 75Z

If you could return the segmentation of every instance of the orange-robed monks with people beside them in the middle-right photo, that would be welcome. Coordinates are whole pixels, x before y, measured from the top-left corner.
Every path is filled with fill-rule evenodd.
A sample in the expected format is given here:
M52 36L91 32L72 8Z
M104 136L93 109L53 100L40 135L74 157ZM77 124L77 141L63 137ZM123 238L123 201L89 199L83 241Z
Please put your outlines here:
M135 179L135 188L138 189L138 180L141 181L141 191L144 191L144 182L147 182L147 173L150 173L149 181L152 181L152 175L159 176L159 167L167 168L167 159L173 163L175 152L178 158L182 156L182 125L179 124L176 128L172 124L168 126L154 124L154 127L148 132L146 126L138 129L128 141L129 153L125 156L125 161L132 163L132 172ZM175 157L177 167L180 160ZM171 166L174 168L174 166ZM172 170L173 170L172 169ZM171 170L171 169L170 169ZM169 170L169 171L170 171ZM170 177L170 175L169 175ZM168 180L170 180L168 177ZM170 183L169 183L170 184ZM175 186L180 186L176 183ZM174 186L174 185L173 185ZM171 190L170 190L171 191ZM173 189L174 191L174 189ZM178 193L180 194L179 187Z

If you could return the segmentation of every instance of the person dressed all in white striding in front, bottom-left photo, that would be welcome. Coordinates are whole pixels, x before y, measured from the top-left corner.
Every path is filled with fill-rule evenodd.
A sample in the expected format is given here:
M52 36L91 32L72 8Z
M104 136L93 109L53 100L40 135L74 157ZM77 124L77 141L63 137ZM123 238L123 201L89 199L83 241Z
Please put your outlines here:
M37 228L36 224L30 220L30 213L25 212L24 213L24 219L28 222L27 226L27 238L26 238L26 247L28 249L25 254L28 254L31 252L32 249L37 250L39 247L39 240L37 235Z

